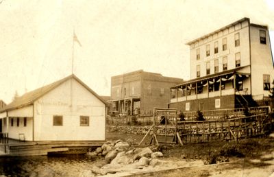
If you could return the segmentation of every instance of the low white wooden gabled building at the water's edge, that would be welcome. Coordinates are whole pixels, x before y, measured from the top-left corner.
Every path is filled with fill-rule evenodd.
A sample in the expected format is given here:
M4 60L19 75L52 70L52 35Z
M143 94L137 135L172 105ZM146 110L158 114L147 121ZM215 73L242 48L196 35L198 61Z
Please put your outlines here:
M1 108L2 132L26 141L105 141L105 105L69 75Z

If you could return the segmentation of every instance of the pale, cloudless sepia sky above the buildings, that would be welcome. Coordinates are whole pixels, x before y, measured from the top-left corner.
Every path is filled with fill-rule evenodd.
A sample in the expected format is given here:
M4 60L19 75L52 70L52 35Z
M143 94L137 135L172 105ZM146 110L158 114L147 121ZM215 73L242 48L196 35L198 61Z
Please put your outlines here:
M0 0L0 99L70 75L72 58L99 95L139 69L188 80L186 43L243 17L268 25L274 51L274 0Z

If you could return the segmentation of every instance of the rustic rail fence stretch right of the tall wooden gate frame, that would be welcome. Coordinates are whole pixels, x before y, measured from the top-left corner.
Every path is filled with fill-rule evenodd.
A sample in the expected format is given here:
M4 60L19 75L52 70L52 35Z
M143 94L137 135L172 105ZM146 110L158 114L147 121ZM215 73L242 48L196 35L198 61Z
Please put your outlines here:
M260 114L217 121L179 121L177 130L183 143L238 140L271 131L271 117Z

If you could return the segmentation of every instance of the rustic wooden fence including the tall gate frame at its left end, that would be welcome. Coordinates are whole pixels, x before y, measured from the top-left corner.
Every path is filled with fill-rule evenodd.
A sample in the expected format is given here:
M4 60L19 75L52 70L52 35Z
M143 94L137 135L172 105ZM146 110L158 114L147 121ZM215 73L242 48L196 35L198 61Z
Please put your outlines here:
M155 109L157 110L157 109ZM170 112L171 110L162 110ZM200 143L210 141L229 141L248 137L263 136L271 132L273 118L269 108L267 110L254 109L253 115L230 119L216 119L206 121L177 121L173 115L164 124L155 119L149 131L153 131L151 143ZM154 117L157 117L155 111ZM140 141L139 145L148 136Z

